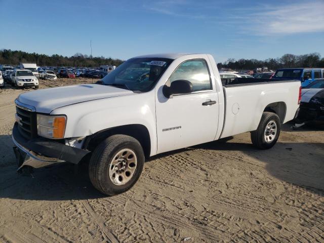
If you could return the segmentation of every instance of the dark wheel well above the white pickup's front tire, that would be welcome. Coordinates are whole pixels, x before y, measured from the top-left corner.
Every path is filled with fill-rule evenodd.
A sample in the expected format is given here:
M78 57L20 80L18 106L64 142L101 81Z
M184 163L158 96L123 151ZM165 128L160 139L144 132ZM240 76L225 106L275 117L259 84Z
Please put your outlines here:
M145 157L148 158L150 156L150 135L147 128L140 124L119 126L99 131L86 138L84 148L93 151L104 139L116 134L128 135L137 139L142 145Z

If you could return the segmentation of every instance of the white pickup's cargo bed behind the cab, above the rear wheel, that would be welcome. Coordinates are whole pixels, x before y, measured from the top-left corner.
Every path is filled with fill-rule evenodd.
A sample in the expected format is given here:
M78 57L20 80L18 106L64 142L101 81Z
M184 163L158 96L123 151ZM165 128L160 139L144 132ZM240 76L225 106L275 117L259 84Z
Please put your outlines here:
M292 120L298 109L299 80L263 78L222 79L225 115L220 138L257 129L261 115L271 104L271 109L284 107L279 115L281 124Z

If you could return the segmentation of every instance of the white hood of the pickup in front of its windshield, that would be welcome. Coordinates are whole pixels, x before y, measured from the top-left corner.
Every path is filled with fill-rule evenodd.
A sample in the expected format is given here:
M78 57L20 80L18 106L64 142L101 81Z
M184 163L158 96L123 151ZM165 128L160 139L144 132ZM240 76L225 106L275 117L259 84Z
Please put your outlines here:
M18 101L35 107L36 112L49 114L62 106L134 94L132 91L116 87L87 84L27 92L19 95Z

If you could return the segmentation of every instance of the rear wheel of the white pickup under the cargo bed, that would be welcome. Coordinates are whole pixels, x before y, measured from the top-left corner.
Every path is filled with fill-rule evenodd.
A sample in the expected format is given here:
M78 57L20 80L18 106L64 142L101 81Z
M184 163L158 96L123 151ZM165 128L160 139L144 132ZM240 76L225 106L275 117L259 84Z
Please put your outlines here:
M251 132L251 141L260 149L273 147L280 135L280 118L272 112L263 112L257 130Z

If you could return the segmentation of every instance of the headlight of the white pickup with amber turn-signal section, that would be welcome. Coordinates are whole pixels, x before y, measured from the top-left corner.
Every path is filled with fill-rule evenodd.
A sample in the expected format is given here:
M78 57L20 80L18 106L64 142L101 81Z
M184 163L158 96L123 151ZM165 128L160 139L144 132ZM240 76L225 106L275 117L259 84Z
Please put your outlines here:
M55 139L63 138L65 126L65 115L37 114L37 134L39 136Z

